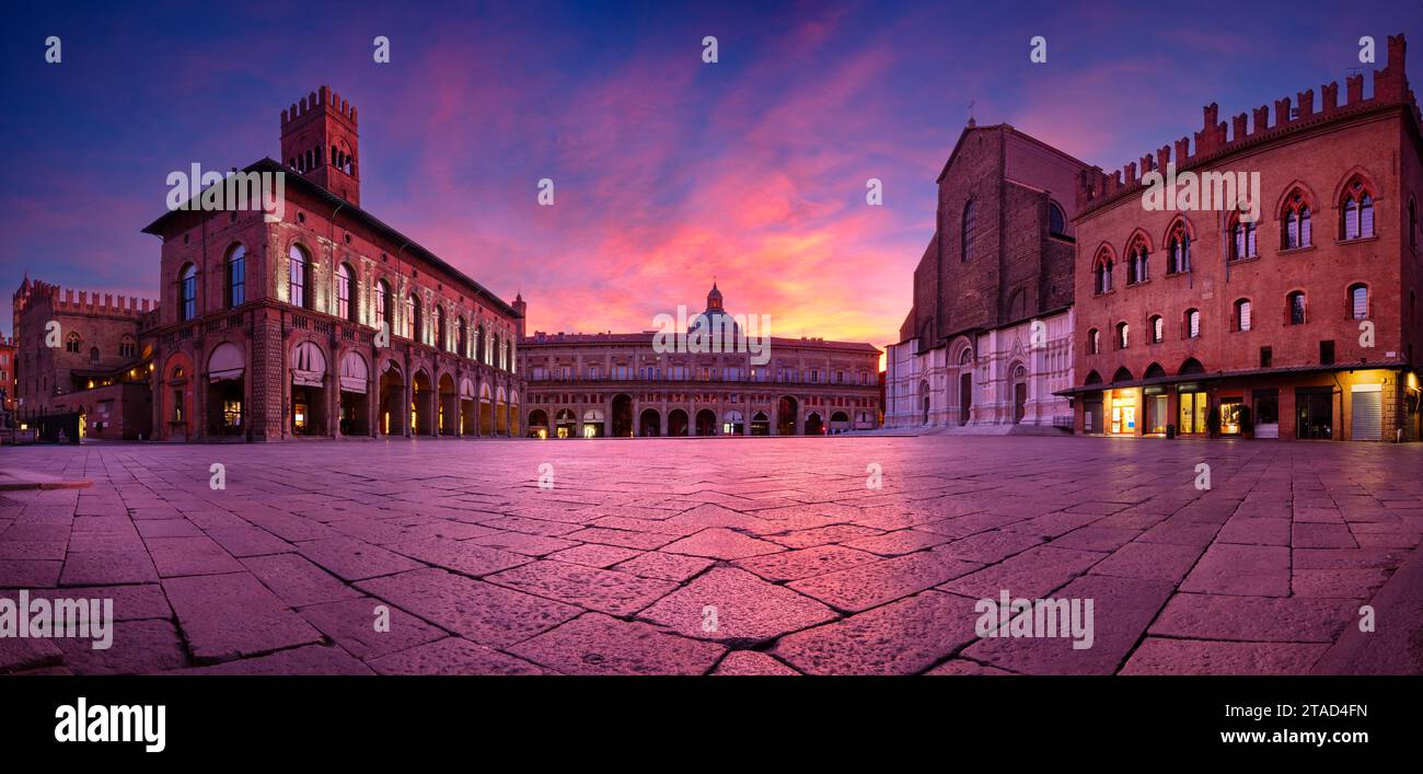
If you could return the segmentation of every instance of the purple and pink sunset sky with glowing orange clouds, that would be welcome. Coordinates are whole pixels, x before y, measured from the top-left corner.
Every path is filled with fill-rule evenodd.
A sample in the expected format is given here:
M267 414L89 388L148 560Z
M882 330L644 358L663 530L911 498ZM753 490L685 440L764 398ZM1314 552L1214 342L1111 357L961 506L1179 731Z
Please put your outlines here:
M649 329L714 276L777 336L884 346L970 100L1111 169L1200 129L1204 104L1227 120L1342 83L1360 36L1382 67L1409 33L1423 83L1423 6L1309 6L26 3L0 33L0 330L26 270L155 297L139 229L168 174L277 157L282 108L329 84L360 112L363 208L522 292L531 332Z

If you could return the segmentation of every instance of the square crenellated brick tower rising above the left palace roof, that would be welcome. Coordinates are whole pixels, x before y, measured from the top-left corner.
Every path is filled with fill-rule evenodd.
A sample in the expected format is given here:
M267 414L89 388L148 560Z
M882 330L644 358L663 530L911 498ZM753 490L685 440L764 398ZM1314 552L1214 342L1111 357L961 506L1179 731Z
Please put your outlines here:
M309 181L360 206L356 108L324 85L282 111L282 159Z

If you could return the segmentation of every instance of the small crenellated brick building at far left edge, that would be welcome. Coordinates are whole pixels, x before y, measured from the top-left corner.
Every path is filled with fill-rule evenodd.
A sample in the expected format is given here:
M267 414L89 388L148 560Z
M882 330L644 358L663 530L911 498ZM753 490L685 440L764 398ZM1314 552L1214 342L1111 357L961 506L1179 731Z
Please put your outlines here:
M81 437L151 437L151 359L141 332L157 320L154 302L26 276L13 303L16 424L78 414Z

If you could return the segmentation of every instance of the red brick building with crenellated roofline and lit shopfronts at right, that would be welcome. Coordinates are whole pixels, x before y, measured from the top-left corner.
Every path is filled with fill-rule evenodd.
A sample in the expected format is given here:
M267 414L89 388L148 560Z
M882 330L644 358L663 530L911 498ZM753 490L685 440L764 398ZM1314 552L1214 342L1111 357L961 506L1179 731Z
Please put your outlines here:
M1194 142L1083 175L1079 433L1420 437L1423 137L1403 36L1387 55L1368 98L1353 75L1229 127L1212 104ZM1258 172L1258 221L1146 209L1168 164Z

